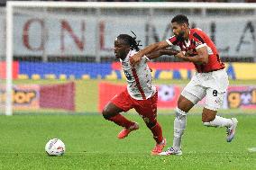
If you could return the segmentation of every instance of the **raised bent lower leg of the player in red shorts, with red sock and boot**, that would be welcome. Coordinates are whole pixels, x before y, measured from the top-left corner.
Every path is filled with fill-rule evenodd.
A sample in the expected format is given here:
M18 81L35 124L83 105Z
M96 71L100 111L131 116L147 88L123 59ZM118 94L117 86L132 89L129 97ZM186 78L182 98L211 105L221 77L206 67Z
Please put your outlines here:
M102 114L105 120L114 121L115 124L124 127L124 129L118 134L119 139L124 139L133 130L139 129L139 124L137 122L127 120L120 112L122 109L116 107L114 103L107 103Z

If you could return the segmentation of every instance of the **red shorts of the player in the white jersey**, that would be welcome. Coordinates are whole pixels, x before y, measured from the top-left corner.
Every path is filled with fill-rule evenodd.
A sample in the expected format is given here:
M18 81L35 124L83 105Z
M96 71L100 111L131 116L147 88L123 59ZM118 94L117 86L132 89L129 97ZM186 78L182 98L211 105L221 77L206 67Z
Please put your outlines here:
M136 100L125 89L121 94L115 95L110 102L124 112L134 108L146 122L156 121L158 92L146 100Z

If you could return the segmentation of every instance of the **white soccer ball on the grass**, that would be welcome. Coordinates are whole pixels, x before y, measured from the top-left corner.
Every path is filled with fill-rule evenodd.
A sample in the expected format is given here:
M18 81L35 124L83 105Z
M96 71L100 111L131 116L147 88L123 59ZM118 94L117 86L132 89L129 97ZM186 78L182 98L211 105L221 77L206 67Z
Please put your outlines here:
M65 144L60 139L50 139L45 145L49 156L62 156L65 153Z

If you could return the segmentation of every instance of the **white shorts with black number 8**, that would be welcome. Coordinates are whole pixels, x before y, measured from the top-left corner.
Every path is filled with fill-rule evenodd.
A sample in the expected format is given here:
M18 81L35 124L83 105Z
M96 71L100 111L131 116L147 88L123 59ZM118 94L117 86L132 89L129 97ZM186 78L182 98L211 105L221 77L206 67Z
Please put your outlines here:
M223 105L228 84L228 76L224 69L209 73L196 73L181 95L194 104L206 96L205 108L217 111Z

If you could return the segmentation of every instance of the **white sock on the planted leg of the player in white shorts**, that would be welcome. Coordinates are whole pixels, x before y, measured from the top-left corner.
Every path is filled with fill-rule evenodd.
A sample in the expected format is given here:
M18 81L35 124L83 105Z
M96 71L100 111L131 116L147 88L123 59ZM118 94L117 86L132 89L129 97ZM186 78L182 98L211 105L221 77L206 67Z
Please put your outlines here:
M187 124L187 112L183 112L176 108L176 118L174 120L174 137L173 137L173 148L180 150L181 148L181 137L186 129Z

